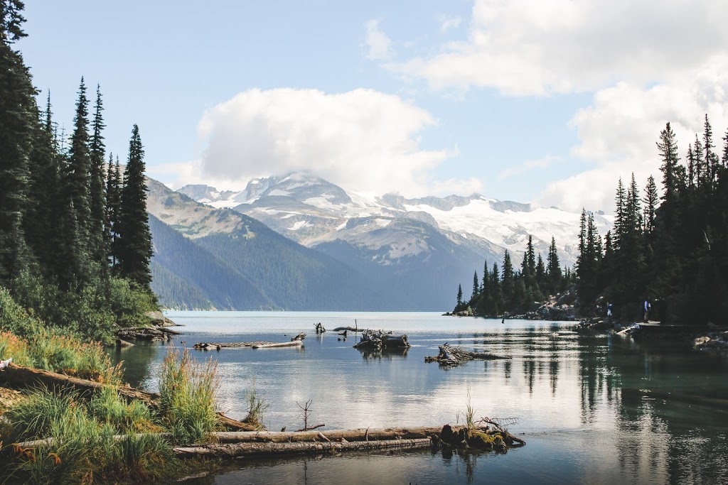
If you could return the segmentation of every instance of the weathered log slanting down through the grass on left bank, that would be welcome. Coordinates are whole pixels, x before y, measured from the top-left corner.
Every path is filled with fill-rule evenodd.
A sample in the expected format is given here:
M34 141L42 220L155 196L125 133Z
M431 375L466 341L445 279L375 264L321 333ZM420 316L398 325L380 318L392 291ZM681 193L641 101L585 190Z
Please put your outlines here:
M82 396L92 396L102 388L114 387L119 393L119 396L126 398L127 401L142 401L151 409L159 409L158 393L148 393L145 390L132 388L128 385L111 386L94 380L80 379L79 377L71 377L65 374L33 369L32 367L16 364L9 364L9 366L0 371L0 382L7 382L7 384L15 387L34 387L41 385L46 388L72 388L81 393ZM255 426L234 420L221 412L218 412L218 421L228 429L240 431L256 430Z

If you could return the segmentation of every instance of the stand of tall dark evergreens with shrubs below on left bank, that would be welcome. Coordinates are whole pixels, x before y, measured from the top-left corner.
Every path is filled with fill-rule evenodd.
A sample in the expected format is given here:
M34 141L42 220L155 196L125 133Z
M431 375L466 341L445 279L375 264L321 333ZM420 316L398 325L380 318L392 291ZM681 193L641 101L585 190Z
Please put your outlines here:
M36 103L23 2L0 1L0 285L34 313L89 337L156 308L144 151L132 128L127 164L108 153L103 102L81 79L70 136L58 134L50 92Z

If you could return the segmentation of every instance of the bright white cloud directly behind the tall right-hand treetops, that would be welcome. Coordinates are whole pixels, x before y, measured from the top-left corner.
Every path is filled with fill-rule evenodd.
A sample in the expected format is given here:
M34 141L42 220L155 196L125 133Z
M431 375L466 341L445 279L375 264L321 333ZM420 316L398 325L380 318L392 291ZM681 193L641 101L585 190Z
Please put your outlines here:
M665 84L636 87L619 83L598 91L592 105L571 119L580 140L572 148L572 156L596 162L596 167L552 183L542 203L612 212L619 177L627 183L634 172L641 189L649 175L659 184L660 155L655 143L665 123L670 121L676 133L684 162L696 133L703 136L705 114L720 152L728 127L728 55L713 57Z

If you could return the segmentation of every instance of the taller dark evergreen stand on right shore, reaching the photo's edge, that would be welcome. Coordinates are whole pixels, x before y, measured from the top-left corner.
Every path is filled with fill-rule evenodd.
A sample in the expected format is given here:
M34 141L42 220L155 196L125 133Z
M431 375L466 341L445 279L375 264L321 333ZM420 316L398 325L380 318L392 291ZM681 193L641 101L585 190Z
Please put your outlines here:
M686 324L728 317L728 132L717 152L708 115L681 163L670 123L660 132L662 193L650 176L642 193L632 175L620 179L614 228L604 247L582 211L577 292L582 313L605 299L614 313L636 319L652 300L653 318ZM601 306L601 305L600 305Z

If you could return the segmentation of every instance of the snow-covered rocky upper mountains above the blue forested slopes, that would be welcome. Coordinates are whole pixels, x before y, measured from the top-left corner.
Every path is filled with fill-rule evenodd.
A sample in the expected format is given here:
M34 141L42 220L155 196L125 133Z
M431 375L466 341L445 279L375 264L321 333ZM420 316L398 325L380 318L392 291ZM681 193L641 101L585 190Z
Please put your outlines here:
M233 207L304 246L324 249L325 244L344 241L375 252L370 256L380 265L430 251L421 239L422 223L460 250L491 262L500 263L505 249L520 262L529 235L544 258L552 236L561 265L572 265L577 257L578 213L498 201L477 193L421 199L347 193L303 173L251 180L240 192L220 192L205 185L186 185L179 192L212 207ZM602 235L612 227L611 217L600 213L594 219Z

